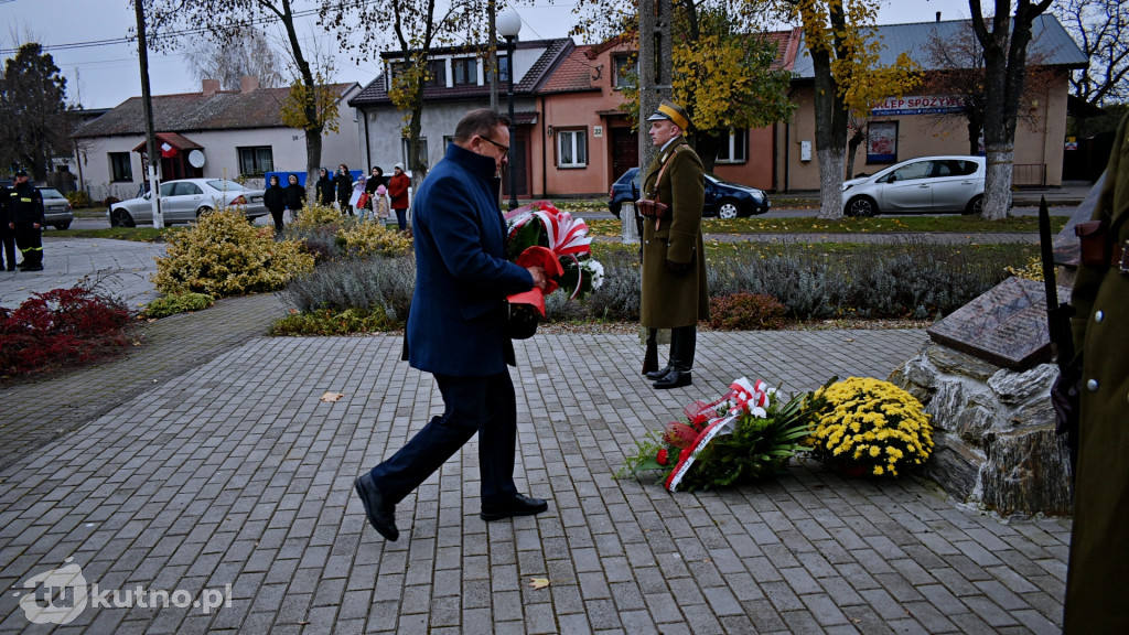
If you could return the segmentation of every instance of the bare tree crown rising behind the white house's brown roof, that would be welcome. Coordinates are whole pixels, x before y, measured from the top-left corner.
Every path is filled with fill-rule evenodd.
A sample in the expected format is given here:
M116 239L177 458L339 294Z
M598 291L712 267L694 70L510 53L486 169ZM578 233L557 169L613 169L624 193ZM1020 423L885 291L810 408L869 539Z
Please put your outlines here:
M257 77L263 88L287 85L285 64L266 37L255 29L245 29L222 42L193 41L184 54L189 72L198 84L218 79L225 90L238 90L243 77Z

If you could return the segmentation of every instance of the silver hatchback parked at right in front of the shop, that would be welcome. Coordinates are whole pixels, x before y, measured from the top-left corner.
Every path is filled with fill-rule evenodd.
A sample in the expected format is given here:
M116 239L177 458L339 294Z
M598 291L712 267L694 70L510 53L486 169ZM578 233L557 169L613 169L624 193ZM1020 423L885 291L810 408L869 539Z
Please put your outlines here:
M983 157L918 157L843 182L842 206L847 216L914 211L980 214L983 202Z

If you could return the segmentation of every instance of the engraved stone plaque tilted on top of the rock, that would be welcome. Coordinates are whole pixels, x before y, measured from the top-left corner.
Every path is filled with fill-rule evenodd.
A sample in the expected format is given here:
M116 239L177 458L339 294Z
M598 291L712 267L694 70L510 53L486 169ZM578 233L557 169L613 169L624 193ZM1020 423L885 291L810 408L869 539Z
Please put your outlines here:
M1058 288L1059 302L1070 289ZM933 341L1013 371L1050 362L1043 284L1008 278L929 327Z

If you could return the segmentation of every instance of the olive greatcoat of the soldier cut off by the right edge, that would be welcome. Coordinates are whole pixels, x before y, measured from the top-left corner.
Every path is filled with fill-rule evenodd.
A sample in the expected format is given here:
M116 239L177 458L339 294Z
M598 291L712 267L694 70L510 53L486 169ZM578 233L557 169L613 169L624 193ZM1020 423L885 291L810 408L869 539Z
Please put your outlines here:
M1074 530L1064 633L1129 633L1129 116L1118 129L1094 207L1101 234L1083 240L1070 320L1082 366ZM1101 258L1086 240L1100 240ZM1087 262L1088 261L1088 262ZM1079 358L1080 357L1080 358Z

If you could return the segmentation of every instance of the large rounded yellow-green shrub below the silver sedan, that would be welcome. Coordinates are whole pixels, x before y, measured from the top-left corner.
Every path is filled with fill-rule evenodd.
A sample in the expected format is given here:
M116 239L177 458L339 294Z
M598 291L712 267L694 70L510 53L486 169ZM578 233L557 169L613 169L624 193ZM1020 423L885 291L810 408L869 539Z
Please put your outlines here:
M168 238L152 281L166 295L187 292L227 297L285 287L314 269L314 256L294 241L274 241L271 227L247 223L239 211L201 216L186 232Z

